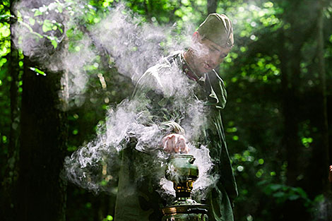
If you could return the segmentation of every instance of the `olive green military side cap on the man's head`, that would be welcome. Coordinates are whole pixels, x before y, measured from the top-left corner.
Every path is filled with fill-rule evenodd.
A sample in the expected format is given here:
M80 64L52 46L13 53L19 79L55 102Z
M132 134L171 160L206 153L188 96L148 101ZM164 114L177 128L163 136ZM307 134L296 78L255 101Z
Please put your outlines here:
M221 47L232 47L234 44L232 22L224 14L209 14L197 31L202 37Z

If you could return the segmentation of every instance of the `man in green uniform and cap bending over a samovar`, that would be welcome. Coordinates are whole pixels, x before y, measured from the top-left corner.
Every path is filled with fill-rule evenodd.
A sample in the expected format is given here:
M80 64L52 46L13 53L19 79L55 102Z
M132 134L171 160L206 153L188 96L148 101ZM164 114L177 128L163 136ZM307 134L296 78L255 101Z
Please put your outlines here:
M232 199L237 196L237 186L220 115L227 94L223 80L213 69L232 46L230 19L212 13L194 32L188 50L162 59L138 80L131 100L142 113L137 121L148 129L157 128L157 132L150 133L151 139L133 135L131 147L123 150L115 220L161 220L159 208L165 201L156 191L160 146L167 153L188 153L187 142L197 148L208 147L213 161L211 173L219 177L202 197L202 203L210 205L209 219L233 220ZM160 146L153 145L152 139ZM137 169L142 162L146 167Z

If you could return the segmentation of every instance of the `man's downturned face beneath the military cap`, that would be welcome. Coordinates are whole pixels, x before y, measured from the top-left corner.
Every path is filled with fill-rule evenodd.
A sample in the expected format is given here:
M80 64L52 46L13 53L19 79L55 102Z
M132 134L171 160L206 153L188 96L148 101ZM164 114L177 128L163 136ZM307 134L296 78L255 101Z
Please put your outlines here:
M198 33L197 33L198 34ZM230 48L221 47L207 38L198 36L194 39L191 48L194 51L193 68L198 74L212 71L219 66L230 52Z

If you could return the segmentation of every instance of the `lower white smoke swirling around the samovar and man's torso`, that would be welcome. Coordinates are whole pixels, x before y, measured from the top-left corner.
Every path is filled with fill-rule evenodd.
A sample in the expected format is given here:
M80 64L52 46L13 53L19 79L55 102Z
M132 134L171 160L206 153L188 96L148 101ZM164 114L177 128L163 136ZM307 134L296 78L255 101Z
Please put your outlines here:
M119 162L118 153L128 147L131 141L134 141L135 150L140 153L148 153L141 155L139 163L134 164L136 181L139 182L143 177L150 176L157 183L161 181L162 191L165 193L173 192L170 189L171 185L162 179L165 175L165 167L163 166L167 161L167 153L164 153L160 146L162 138L171 133L172 129L163 124L163 117L151 119L155 114L153 112L155 109L147 109L151 102L150 97L146 96L147 91L151 89L155 92L162 92L162 99L168 97L172 100L172 103L165 108L170 109L170 112L175 114L172 115L171 120L184 122L182 126L186 130L186 138L189 141L194 141L201 136L201 126L206 124L206 112L203 108L203 102L192 96L196 84L178 68L162 68L161 66L158 69L158 75L154 68L150 68L146 74L153 77L143 78L143 81L139 82L139 85L143 85L144 89L138 89L141 92L137 92L131 100L124 100L116 108L109 109L105 126L100 127L97 138L76 150L76 153L70 158L66 158L66 172L74 183L96 192L107 190L107 186L96 185L96 183L101 184L105 177L96 177L95 167L109 161L113 167L109 168L107 174L112 174L114 168L117 168L114 166L114 162ZM162 109L157 111L156 116L160 115ZM208 173L213 166L208 149L204 146L197 149L190 143L189 147L191 148L190 153L197 159L195 163L200 170L200 177L195 183L194 191L196 189L202 192L206 191L206 188L213 185L218 178ZM105 156L109 157L105 159ZM118 158L114 159L114 157ZM87 179L87 174L89 174L89 179Z

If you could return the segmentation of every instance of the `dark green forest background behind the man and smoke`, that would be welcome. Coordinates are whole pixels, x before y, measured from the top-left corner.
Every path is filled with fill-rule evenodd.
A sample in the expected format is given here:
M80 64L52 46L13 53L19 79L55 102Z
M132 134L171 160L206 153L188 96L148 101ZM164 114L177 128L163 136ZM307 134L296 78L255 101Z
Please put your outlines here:
M107 109L134 90L116 55L90 35L119 1L22 2L33 13L19 12L16 1L0 4L0 219L112 220L116 187L96 195L67 183L61 171L64 158L96 136ZM332 1L121 3L138 26L173 27L156 43L164 55L189 23L197 27L213 12L232 19L235 47L218 71L228 92L223 120L239 189L235 220L331 220ZM47 19L63 11L76 18L71 26ZM14 36L20 26L25 32ZM29 33L42 41L38 52L21 44L35 40ZM81 40L89 37L95 56L84 60ZM49 68L64 49L85 76L69 100L60 95L66 71Z

